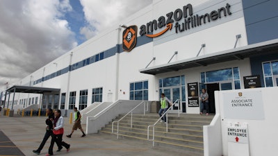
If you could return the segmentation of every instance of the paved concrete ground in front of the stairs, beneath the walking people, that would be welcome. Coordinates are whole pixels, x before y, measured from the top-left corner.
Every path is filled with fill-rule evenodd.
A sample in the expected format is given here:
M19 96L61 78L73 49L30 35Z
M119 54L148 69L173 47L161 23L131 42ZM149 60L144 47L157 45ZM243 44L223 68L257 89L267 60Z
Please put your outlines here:
M44 137L45 132L45 116L33 116L33 117L7 117L0 116L0 130L4 135L10 139L10 141L0 142L0 156L1 155L15 155L15 153L9 152L18 148L24 155L36 155L32 150L36 150L40 146L40 142ZM184 156L197 156L197 153L188 153L186 150L175 149L164 146L152 147L152 142L138 141L132 139L117 139L116 135L102 135L92 134L81 138L81 131L77 130L72 135L72 138L67 138L65 135L69 134L72 129L72 124L69 122L69 118L65 119L65 134L63 141L70 144L70 152L66 152L63 148L60 152L56 152L57 146L54 145L54 155L67 155L67 156L87 156L87 155L184 155ZM85 129L85 125L82 125ZM1 137L1 136L0 136ZM50 138L42 149L40 155L46 155ZM15 146L10 146L14 144ZM12 150L13 151L13 150ZM17 155L21 155L20 151Z

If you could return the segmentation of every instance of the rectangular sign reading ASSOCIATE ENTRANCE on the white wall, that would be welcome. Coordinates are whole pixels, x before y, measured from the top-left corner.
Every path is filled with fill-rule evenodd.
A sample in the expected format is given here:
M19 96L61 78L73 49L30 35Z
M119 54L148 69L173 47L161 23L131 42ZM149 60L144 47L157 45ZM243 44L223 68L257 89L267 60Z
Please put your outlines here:
M248 89L240 92L223 92L222 103L225 119L265 119L261 91Z

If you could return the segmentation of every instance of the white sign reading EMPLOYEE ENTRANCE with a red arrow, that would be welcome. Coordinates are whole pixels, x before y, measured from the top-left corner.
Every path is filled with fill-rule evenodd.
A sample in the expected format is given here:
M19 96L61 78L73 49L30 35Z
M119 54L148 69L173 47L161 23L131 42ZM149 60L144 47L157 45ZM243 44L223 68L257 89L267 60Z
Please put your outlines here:
M247 124L227 126L228 155L229 156L249 156L249 138Z

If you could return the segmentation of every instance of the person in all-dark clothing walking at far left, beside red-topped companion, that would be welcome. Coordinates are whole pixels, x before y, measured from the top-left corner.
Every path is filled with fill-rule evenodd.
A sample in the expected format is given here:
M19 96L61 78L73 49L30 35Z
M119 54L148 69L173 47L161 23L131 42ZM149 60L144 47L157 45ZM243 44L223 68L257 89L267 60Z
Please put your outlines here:
M47 109L47 115L48 115L48 118L45 120L45 123L47 124L47 128L46 129L46 132L44 134L44 139L42 139L42 143L40 143L40 147L38 148L38 150L33 150L33 153L37 154L37 155L40 155L40 151L42 150L44 144L47 142L47 139L49 139L49 137L53 137L53 121L54 121L54 113L53 111L51 110L51 108L48 108ZM57 143L56 143L57 144ZM57 144L58 146L58 144ZM58 150L57 151L60 151L63 147L62 146L58 146Z

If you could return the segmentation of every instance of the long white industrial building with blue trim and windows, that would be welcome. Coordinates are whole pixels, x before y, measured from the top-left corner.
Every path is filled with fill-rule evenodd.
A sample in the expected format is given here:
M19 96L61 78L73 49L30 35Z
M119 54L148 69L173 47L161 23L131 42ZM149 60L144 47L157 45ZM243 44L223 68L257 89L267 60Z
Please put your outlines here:
M8 88L5 107L83 110L95 102L159 101L163 92L180 101L172 113L199 114L199 101L190 100L206 88L215 114L215 91L278 85L277 5L153 0Z

